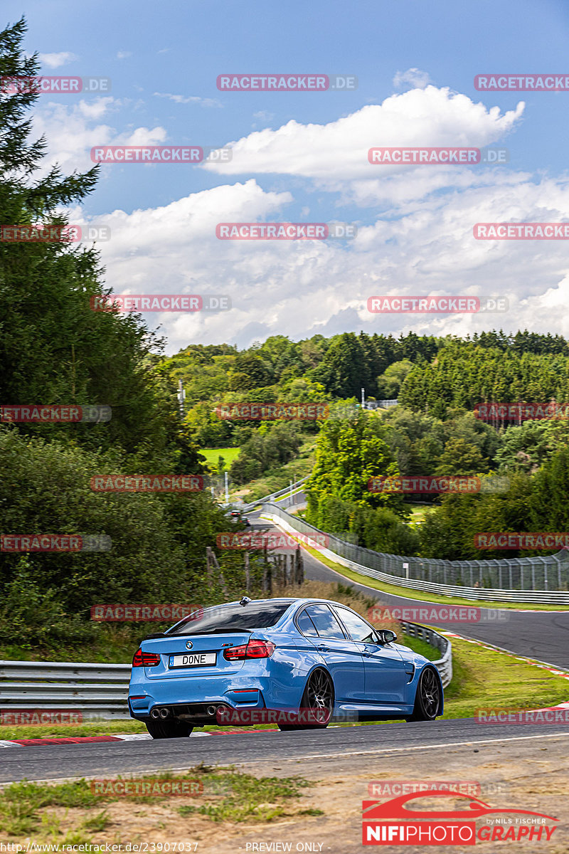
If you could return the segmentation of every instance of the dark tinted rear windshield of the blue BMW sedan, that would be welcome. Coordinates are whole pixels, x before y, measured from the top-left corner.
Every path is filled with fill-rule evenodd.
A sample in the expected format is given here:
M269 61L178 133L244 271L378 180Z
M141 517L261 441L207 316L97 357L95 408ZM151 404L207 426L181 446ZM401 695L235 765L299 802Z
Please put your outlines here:
M226 631L252 631L274 626L291 602L250 602L249 605L216 605L207 608L200 619L187 618L168 635L210 635Z

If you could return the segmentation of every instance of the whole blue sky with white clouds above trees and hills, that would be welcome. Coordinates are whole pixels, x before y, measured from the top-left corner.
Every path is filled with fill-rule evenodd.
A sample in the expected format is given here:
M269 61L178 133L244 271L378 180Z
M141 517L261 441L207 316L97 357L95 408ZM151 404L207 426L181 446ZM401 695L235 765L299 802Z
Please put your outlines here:
M489 327L482 318L441 316L390 316L379 325L361 308L379 282L381 293L457 293L453 281L477 295L508 293L507 321L490 325L569 333L558 316L569 292L563 243L474 247L467 238L478 212L474 221L569 219L569 91L483 93L473 86L474 75L485 72L569 73L566 3L8 0L3 9L3 23L26 15L26 50L44 56L44 73L112 79L110 97L38 102L38 132L67 171L88 168L96 144L241 141L230 169L104 167L84 206L88 218L112 225L113 238L101 249L113 290L199 287L231 295L235 309L224 317L148 316L150 325L160 320L171 350L191 341L244 346L278 332L298 338L360 328L443 334ZM409 69L418 72L398 84L396 75ZM358 87L217 90L218 74L248 72L355 74ZM393 97L394 125L379 106ZM510 161L493 170L450 167L452 174L423 167L439 170L434 178L407 169L389 180L383 167L360 172L350 165L355 145L397 144L394 127L401 144L497 143ZM210 214L212 221L355 221L361 237L333 248L220 247ZM153 229L159 219L167 237ZM394 221L402 227L386 229Z

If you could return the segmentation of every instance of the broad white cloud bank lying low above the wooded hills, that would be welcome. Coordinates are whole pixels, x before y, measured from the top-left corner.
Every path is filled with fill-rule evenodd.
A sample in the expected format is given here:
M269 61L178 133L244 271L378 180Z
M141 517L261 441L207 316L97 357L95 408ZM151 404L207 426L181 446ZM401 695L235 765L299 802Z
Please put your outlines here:
M274 334L299 338L341 330L464 335L492 327L569 335L564 310L569 264L563 242L483 242L479 221L569 219L569 180L535 184L516 175L449 190L422 206L394 205L345 242L219 241L219 222L289 219L289 193L253 179L203 190L156 210L101 217L113 239L100 244L107 283L118 293L226 294L224 313L149 314L169 352L188 342L239 342ZM125 288L128 283L128 288ZM367 311L373 295L505 296L508 313L390 314Z

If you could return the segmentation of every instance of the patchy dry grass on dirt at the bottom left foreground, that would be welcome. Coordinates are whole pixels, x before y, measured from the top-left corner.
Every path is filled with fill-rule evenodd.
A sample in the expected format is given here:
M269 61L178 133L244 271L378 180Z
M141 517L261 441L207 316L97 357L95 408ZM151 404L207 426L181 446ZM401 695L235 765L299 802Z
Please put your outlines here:
M114 779L132 780L121 776ZM160 785L166 781L185 781L194 795L178 797L160 793L124 797L94 793L91 783L85 780L55 785L23 781L4 787L0 792L0 827L10 841L25 841L25 837L32 835L35 841L42 843L100 845L121 841L118 834L125 826L126 814L131 825L128 841L136 838L136 832L142 829L145 834L156 829L163 836L165 824L172 828L176 816L179 828L186 833L191 833L191 816L231 824L248 820L269 823L276 818L310 812L299 810L298 800L302 790L313 785L299 776L255 777L230 768L213 769L205 765L189 769L183 775L166 773L136 777L139 786L144 781L153 785L154 781L159 781ZM189 804L189 799L194 803ZM154 828L148 828L148 810L153 814ZM140 816L139 828L136 828L136 816ZM203 819L200 826L202 824ZM91 835L93 832L97 834L96 839Z

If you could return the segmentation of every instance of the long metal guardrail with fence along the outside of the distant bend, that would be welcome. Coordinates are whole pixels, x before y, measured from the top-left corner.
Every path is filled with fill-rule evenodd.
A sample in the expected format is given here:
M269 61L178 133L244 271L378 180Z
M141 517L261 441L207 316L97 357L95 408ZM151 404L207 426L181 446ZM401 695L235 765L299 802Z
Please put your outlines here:
M274 503L265 503L261 516L292 533L324 534ZM438 560L374 552L332 534L326 536L329 545L328 549L322 549L324 555L386 584L462 599L569 605L566 549L538 558Z

